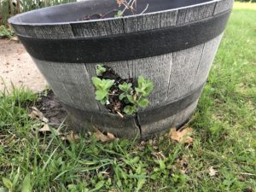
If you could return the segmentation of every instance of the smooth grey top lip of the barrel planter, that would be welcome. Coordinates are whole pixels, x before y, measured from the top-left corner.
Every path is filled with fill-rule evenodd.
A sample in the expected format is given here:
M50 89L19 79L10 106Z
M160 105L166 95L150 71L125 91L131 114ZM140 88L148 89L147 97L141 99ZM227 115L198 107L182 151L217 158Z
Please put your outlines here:
M207 4L211 4L211 3L218 3L218 2L222 2L224 0L210 0L204 3L195 3L192 5L188 5L188 6L183 6L183 7L178 7L175 9L166 9L166 10L160 10L160 11L154 11L154 12L149 12L149 13L144 13L143 15L157 15L157 14L164 14L166 12L172 12L172 11L177 11L180 9L190 9L190 8L194 8L194 7L199 7L201 5L207 5ZM75 3L86 3L86 1L82 1L82 2L75 2ZM70 24L83 24L83 23L94 23L94 22L102 22L105 20L122 20L122 19L130 19L130 18L135 18L138 16L142 16L140 14L138 15L127 15L124 17L117 17L117 18L105 18L105 19L95 19L95 20L74 20L74 21L63 21L63 22L42 22L42 23L36 23L36 22L23 22L20 20L20 16L22 15L26 15L29 13L36 13L36 12L40 12L42 10L46 10L46 9L54 9L57 7L65 7L68 6L70 4L75 4L75 3L67 3L67 4L60 4L60 5L55 5L55 6L51 6L51 7L47 7L47 8L43 8L43 9L35 9L32 11L28 11L19 15L15 15L11 18L9 18L9 23L12 25L17 25L17 26L61 26L61 25L70 25Z

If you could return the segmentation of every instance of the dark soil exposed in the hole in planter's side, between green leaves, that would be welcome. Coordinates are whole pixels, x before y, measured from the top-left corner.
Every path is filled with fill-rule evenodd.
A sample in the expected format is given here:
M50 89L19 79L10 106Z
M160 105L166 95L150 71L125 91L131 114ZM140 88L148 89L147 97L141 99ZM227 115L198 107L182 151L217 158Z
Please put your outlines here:
M133 79L121 79L120 76L113 71L111 67L103 66L106 68L106 72L102 73L102 76L98 76L100 79L111 79L114 80L113 86L110 88L110 94L108 97L109 104L106 104L105 107L108 108L110 113L121 113L125 106L129 103L125 99L122 101L119 100L119 95L123 93L122 90L119 90L119 84L131 83L132 88L135 89L133 84Z

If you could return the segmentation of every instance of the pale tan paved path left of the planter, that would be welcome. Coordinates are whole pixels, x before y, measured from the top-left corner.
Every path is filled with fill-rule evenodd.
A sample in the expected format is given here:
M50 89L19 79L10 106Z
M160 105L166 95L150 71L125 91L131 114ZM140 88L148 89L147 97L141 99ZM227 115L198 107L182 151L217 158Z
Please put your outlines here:
M46 81L27 54L22 44L0 39L0 91L4 84L11 90L10 82L15 87L26 86L30 90L44 90Z

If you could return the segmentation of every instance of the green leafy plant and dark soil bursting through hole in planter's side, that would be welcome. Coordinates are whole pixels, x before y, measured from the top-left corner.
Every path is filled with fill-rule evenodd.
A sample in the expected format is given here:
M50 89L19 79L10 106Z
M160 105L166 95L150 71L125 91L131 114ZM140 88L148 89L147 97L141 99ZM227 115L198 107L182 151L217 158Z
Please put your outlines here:
M96 100L112 113L135 114L138 108L146 108L148 96L154 89L149 79L139 76L137 82L133 79L121 79L110 67L97 65L97 77L92 78L96 87Z

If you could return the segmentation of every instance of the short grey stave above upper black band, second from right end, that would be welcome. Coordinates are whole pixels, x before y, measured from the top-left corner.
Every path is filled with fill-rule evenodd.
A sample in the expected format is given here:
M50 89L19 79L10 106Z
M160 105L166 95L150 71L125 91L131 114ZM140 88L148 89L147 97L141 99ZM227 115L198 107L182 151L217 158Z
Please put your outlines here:
M202 20L213 14L216 2L179 9L177 13L177 25L189 23L195 20Z

